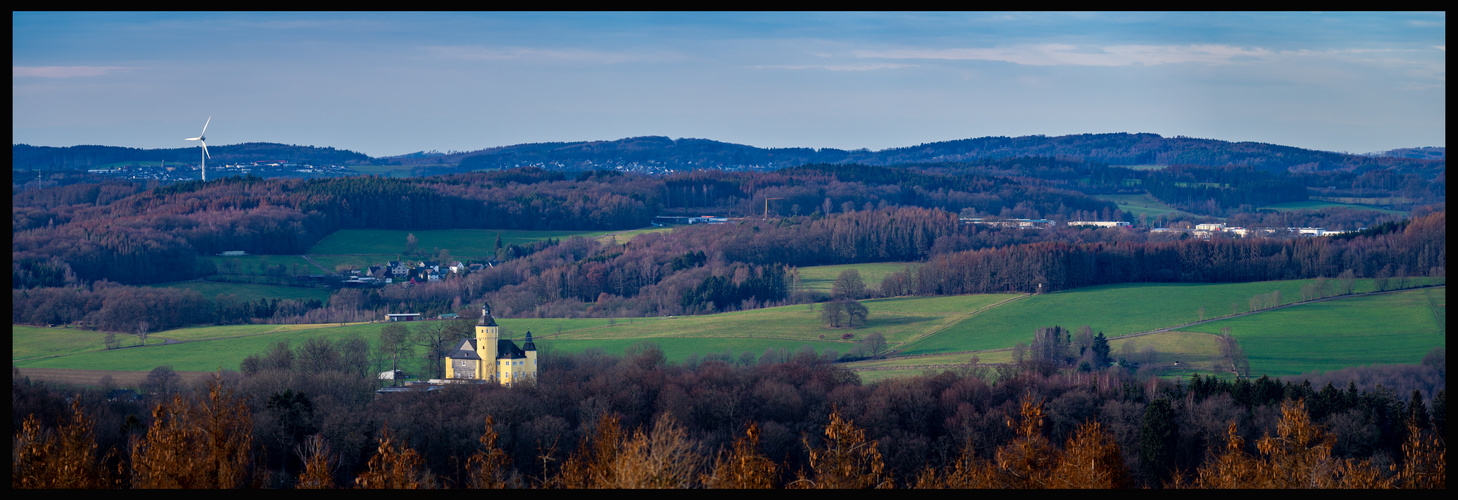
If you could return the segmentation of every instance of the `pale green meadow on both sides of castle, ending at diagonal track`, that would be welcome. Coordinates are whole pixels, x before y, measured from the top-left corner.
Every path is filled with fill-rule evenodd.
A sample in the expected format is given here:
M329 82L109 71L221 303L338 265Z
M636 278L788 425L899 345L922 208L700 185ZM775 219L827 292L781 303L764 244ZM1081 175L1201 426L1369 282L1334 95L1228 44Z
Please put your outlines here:
M952 297L895 297L866 300L869 324L857 329L833 329L819 324L819 312L805 305L729 312L707 316L620 318L620 319L510 319L502 318L502 335L521 340L532 331L539 350L574 353L602 348L608 354L623 351L640 341L658 344L672 362L682 362L693 353L744 351L755 356L765 348L799 350L812 345L816 351L847 353L853 343L840 338L853 332L856 338L876 331L891 344L933 332L1015 294L975 294ZM767 329L765 325L776 325ZM379 338L382 324L354 325L229 325L197 327L155 332L149 344L166 338L190 343L147 348L102 348L99 332L64 328L15 327L12 348L20 367L66 367L106 370L149 370L156 364L172 364L176 370L216 370L219 366L236 369L248 354L264 351L278 340L300 341L309 335L343 338L359 334L369 341ZM558 331L560 328L560 331ZM824 338L821 338L824 335ZM125 335L124 335L125 337ZM210 341L201 341L210 340ZM42 353L41 347L45 347ZM34 359L35 356L57 356ZM28 360L20 360L22 357ZM160 360L165 360L160 362Z

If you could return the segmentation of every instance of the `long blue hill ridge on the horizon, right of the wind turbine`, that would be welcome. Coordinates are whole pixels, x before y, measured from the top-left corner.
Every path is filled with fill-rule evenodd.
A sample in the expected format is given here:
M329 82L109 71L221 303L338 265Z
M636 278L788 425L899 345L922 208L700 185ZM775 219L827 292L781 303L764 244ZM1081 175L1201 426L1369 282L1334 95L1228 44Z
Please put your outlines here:
M628 166L630 169L730 169L771 171L805 163L898 165L968 162L1018 156L1066 156L1108 165L1250 165L1263 171L1365 171L1395 168L1436 172L1442 160L1378 157L1319 152L1264 143L1231 143L1212 138L1161 137L1158 134L1079 134L980 137L879 152L783 147L763 149L707 138L630 137L612 141L532 143L477 152L430 156L417 162L458 163L461 169L541 166L588 171ZM410 165L411 157L391 157Z

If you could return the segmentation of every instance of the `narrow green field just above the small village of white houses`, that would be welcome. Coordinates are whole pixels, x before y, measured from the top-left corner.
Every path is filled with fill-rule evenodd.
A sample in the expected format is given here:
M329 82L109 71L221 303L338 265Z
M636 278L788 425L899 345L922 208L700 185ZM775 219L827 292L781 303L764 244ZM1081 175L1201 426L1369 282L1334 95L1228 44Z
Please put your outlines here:
M548 238L572 236L596 238L611 230L513 230L513 229L440 229L440 230L386 230L386 229L341 229L313 245L309 255L347 254L392 254L405 251L405 236L416 235L417 248L434 254L451 251L458 258L490 258L496 255L496 235L502 245L525 245Z

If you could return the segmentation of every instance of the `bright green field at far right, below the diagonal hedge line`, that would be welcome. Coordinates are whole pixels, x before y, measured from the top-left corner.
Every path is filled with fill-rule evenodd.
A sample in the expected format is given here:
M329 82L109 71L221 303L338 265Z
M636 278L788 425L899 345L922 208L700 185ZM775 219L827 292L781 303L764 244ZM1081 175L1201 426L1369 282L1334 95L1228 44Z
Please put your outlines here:
M1436 310L1430 302L1436 303ZM1446 347L1446 287L1314 302L1188 328L1231 328L1251 375L1292 376L1363 364L1414 364Z

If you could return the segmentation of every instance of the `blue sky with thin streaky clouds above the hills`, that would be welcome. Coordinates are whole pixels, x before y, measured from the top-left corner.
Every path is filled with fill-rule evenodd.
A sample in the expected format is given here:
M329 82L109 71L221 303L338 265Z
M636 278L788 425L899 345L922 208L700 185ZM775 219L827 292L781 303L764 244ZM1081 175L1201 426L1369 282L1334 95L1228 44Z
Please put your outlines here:
M13 12L12 143L1446 146L1445 13Z

